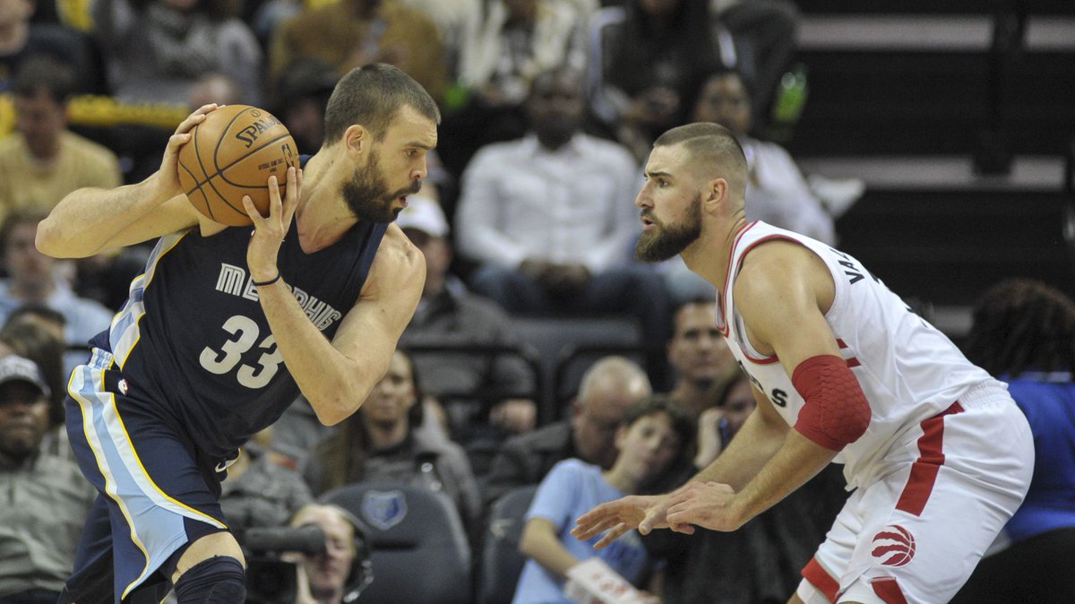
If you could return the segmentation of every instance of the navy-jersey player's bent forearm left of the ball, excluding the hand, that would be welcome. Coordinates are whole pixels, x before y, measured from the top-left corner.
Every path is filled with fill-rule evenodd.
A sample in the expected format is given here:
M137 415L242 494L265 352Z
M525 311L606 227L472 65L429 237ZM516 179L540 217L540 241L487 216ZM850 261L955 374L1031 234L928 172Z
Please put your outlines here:
M170 197L156 186L154 177L115 189L77 189L38 226L38 249L55 258L92 256Z

